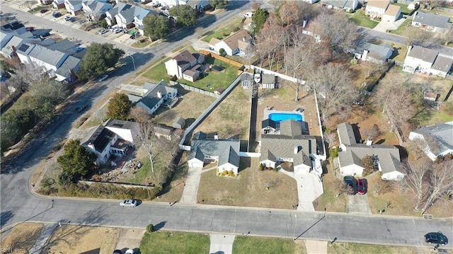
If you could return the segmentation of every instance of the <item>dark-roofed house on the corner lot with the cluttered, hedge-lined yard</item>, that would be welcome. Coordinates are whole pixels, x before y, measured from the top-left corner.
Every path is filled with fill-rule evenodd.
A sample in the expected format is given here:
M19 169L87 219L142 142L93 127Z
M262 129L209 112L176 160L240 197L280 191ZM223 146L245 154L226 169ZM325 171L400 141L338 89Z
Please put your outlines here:
M105 164L112 155L122 157L127 154L134 146L138 129L137 122L110 119L93 129L82 144L98 156L99 165Z

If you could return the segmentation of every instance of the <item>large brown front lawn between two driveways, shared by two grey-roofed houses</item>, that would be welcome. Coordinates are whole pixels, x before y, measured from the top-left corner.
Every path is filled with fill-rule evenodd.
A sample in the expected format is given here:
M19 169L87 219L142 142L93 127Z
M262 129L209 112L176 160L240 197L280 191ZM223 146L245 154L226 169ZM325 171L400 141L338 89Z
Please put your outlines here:
M203 204L291 209L297 204L296 181L277 171L258 171L258 158L241 158L239 176L202 173L197 200ZM278 184L265 190L270 182Z

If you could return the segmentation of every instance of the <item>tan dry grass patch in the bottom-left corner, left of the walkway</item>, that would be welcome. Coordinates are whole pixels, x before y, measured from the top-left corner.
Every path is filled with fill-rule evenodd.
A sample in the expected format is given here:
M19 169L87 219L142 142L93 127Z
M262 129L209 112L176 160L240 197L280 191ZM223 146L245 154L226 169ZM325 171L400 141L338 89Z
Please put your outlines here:
M35 245L43 227L42 223L17 224L5 238L1 239L1 250L11 250L10 253L28 253L28 250Z

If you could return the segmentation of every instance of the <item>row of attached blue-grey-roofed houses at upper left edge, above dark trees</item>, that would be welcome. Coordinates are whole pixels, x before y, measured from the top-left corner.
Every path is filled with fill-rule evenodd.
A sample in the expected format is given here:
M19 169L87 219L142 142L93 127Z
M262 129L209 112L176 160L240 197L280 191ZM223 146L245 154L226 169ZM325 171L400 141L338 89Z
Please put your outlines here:
M79 70L84 50L71 40L56 42L53 38L41 40L25 31L23 25L15 25L15 30L0 31L0 54L6 58L16 58L23 64L41 67L57 81L73 81ZM23 33L22 33L23 32Z

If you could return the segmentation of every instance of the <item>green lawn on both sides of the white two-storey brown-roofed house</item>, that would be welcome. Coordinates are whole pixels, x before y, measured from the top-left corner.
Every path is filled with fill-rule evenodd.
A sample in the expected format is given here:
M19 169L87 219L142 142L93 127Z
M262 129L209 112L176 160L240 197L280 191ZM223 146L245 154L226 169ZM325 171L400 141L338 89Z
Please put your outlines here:
M169 59L169 58L168 58ZM144 73L144 76L149 79L151 82L159 82L162 79L168 83L170 80L170 77L167 75L166 69L165 69L165 62L168 59L164 59L160 64L156 65L155 67L149 69L149 71ZM226 64L225 62L219 61L214 58L206 59L206 64L214 64L214 65L219 65L224 67L224 72L216 72L216 71L210 71L205 73L205 77L202 79L199 79L195 82L190 82L186 80L177 80L179 83L185 83L188 86L193 86L196 88L203 89L205 91L215 91L217 88L227 88L231 81L234 81L236 79L236 76L238 76L238 67L235 67L230 64ZM207 86L210 85L210 86Z

